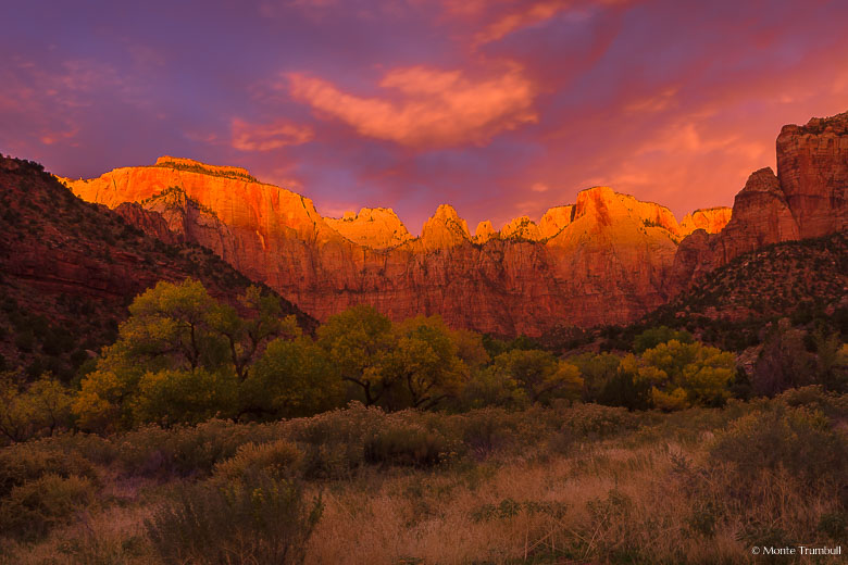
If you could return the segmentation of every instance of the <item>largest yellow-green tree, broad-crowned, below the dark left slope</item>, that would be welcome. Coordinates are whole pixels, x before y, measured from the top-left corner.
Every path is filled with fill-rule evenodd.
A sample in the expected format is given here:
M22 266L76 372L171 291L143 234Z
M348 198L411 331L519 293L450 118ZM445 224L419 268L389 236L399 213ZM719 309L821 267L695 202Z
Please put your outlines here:
M73 410L84 429L139 422L199 422L244 413L240 384L275 338L300 335L279 299L250 287L244 317L191 279L159 282L138 296L117 341L82 379Z

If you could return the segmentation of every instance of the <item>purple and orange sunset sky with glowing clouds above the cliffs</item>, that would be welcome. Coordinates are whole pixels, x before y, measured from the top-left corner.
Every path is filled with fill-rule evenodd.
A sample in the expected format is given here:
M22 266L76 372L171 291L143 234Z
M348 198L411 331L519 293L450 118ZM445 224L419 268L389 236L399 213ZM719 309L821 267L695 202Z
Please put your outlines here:
M7 2L0 152L248 168L325 216L500 228L607 185L681 218L848 110L848 2Z

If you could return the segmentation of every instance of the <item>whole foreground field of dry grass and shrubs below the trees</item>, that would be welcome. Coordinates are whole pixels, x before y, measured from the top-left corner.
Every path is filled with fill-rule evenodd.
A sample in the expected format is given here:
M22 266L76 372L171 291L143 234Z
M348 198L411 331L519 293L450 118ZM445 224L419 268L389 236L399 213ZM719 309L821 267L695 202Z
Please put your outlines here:
M2 449L0 497L10 565L759 563L848 549L848 395L64 435Z

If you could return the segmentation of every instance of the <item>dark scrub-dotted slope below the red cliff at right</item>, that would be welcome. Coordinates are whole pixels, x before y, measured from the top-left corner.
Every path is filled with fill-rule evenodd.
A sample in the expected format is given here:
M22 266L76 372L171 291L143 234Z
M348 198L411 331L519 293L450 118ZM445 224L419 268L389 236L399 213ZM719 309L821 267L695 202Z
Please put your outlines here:
M658 326L686 329L724 350L762 343L782 318L810 334L848 334L848 233L788 241L740 255L629 326L560 328L541 341L569 350L629 350Z

